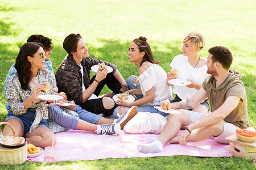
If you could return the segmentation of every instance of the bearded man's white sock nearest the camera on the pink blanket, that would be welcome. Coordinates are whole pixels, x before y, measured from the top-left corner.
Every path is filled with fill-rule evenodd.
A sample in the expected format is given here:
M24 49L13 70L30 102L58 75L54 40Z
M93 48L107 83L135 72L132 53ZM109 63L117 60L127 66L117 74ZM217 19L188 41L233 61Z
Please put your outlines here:
M145 154L158 153L158 152L163 152L163 145L160 141L156 140L150 144L138 144L137 150Z

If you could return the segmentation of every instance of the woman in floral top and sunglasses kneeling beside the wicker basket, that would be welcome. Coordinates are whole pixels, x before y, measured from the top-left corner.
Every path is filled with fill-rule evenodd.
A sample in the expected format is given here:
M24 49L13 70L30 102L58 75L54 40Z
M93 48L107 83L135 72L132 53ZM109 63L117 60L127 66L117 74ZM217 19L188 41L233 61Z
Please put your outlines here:
M6 100L11 109L6 121L14 127L16 135L24 135L28 143L44 148L51 146L52 140L56 142L56 137L47 128L47 104L37 96L41 93L44 82L51 85L47 94L56 94L57 88L52 71L43 69L46 57L42 46L28 42L20 48L15 63L17 73L7 82ZM12 134L7 126L3 133Z

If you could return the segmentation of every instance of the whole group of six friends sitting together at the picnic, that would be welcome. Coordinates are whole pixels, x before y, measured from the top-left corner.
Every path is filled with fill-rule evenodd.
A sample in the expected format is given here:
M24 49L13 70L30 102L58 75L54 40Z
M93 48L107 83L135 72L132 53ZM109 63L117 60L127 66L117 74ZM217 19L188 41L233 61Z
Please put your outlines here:
M225 138L236 129L249 127L245 87L241 73L229 69L233 61L230 50L213 46L206 59L199 55L204 46L205 39L200 33L188 33L181 47L183 54L170 63L176 71L166 73L154 58L146 37L141 36L131 42L127 53L129 61L139 67L138 76L130 75L124 80L117 66L89 57L85 41L80 34L73 33L63 41L68 54L54 74L49 60L52 40L32 35L20 48L5 80L6 122L28 143L44 148L51 146L53 140L56 143L55 134L47 127L48 120L70 129L118 134L138 112L168 116L157 108L162 107L163 101L170 101L168 109L180 113L170 114L159 137L148 135L146 144L137 145L138 151L162 152L166 144L185 145L210 137L227 144ZM99 63L106 67L90 78L91 67ZM169 80L175 78L191 83L172 88ZM49 88L42 92L46 83ZM105 85L112 92L99 96ZM119 93L135 96L136 100L114 101L112 97ZM58 102L69 103L65 108L78 117L64 112L54 100L39 99L42 94L63 96ZM114 119L105 118L108 116ZM177 135L180 129L184 131ZM5 126L3 135L11 134L10 127Z

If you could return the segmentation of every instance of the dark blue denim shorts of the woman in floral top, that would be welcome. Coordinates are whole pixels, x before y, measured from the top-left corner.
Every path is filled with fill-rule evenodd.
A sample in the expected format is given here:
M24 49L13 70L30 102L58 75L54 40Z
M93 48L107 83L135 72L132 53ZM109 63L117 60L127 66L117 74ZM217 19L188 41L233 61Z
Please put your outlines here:
M20 115L15 116L11 109L8 109L8 114L5 121L10 120L11 118L15 118L16 120L20 121L23 128L23 136L30 130L31 125L33 124L36 116L36 108L28 108L27 112ZM40 121L38 127L47 127L47 120L43 119Z

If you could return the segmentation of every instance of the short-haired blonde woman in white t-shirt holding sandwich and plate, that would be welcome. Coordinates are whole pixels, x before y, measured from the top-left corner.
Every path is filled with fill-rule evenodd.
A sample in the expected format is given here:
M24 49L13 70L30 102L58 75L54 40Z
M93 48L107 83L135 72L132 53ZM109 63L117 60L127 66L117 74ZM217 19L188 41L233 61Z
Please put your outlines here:
M201 88L204 79L209 75L207 74L207 66L205 65L207 59L199 56L199 52L204 46L205 40L200 33L191 32L184 37L183 46L181 48L183 49L183 54L174 57L170 66L172 69L178 70L179 76L177 76L177 78L189 80L191 84L188 86L174 86L172 90L176 96L172 102L189 99L195 95L197 90ZM174 78L174 74L170 72L167 73L167 83L168 80ZM170 83L168 84L173 86ZM193 108L192 111L208 113L209 103L207 99Z

